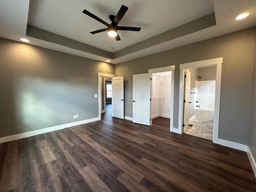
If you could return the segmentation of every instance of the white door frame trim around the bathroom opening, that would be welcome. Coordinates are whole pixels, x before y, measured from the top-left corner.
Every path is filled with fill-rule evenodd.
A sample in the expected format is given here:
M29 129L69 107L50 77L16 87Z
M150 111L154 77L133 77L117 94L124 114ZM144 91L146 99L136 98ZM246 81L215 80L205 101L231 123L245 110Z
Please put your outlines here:
M215 102L214 102L214 123L212 142L218 143L219 119L220 119L220 87L221 87L221 70L223 58L214 58L196 62L180 64L180 93L179 93L179 124L177 133L183 133L183 98L184 98L184 71L188 68L199 68L216 66L216 86L215 86Z

